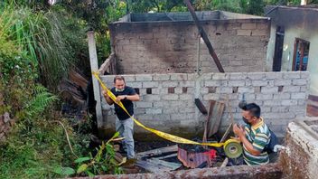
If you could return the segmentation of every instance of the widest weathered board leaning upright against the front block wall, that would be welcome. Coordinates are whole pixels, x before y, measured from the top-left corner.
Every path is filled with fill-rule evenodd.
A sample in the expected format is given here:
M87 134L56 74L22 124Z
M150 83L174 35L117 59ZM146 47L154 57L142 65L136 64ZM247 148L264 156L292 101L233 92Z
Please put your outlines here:
M220 127L220 119L222 118L223 112L224 112L225 104L223 102L215 101L215 104L212 108L211 112L211 119L208 126L208 136L211 137L212 135L216 134Z

